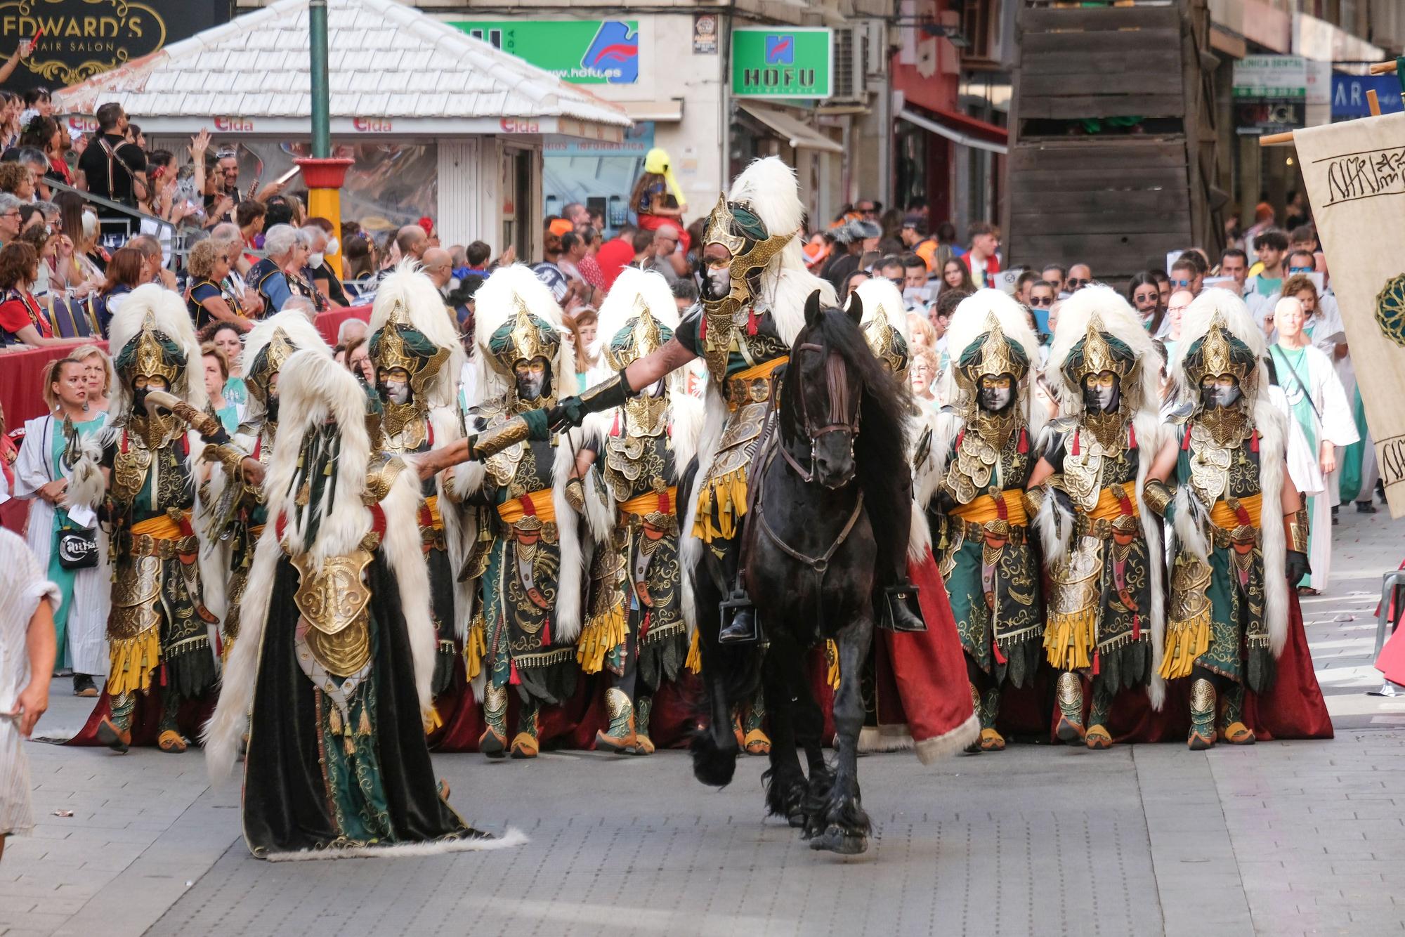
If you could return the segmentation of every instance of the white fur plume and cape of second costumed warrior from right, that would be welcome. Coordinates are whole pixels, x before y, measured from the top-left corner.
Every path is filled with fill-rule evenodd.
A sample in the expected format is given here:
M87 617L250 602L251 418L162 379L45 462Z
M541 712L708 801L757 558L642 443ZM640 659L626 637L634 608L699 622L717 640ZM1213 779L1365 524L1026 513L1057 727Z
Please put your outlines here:
M1161 662L1166 652L1166 579L1165 552L1161 539L1161 518L1146 506L1144 496L1146 473L1166 438L1161 420L1161 368L1156 348L1141 320L1123 296L1111 287L1094 284L1075 292L1059 308L1058 329L1044 367L1044 374L1054 382L1059 393L1061 413L1066 419L1080 419L1083 414L1083 393L1064 376L1064 362L1073 346L1087 334L1087 323L1093 316L1103 322L1103 330L1127 344L1137 355L1137 391L1139 406L1132 416L1132 433L1137 435L1137 513L1146 535L1146 566L1151 579L1151 657L1152 676L1146 695L1152 708L1161 709L1166 701L1166 681L1161 677ZM1125 392L1125 388L1124 388ZM1068 553L1071 518L1058 507L1052 496L1044 499L1044 506L1035 516L1035 527L1044 544L1044 562L1055 563Z

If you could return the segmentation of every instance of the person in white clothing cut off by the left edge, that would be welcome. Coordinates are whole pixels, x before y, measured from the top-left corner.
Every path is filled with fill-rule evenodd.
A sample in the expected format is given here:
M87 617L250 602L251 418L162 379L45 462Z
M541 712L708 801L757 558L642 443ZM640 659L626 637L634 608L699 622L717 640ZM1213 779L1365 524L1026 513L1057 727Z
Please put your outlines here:
M34 827L24 739L49 708L59 590L15 534L0 528L0 856Z

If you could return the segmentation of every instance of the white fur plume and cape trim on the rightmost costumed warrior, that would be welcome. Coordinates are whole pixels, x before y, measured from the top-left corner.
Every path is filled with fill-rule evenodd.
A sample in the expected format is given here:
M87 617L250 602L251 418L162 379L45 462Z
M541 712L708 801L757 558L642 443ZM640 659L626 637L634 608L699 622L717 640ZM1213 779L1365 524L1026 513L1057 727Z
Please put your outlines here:
M1288 583L1279 572L1287 562L1287 542L1279 520L1283 497L1283 478L1287 468L1287 417L1269 393L1269 369L1264 365L1267 341L1257 327L1253 313L1243 299L1228 289L1205 289L1186 308L1180 326L1180 341L1170 362L1170 375L1180 403L1197 403L1198 388L1186 379L1186 353L1204 339L1215 319L1221 329L1249 347L1257 365L1253 381L1253 427L1259 431L1259 490L1263 494L1263 624L1269 629L1269 649L1277 657L1288 639ZM1190 496L1190 486L1182 485L1176 493L1176 545L1204 561L1208 553L1205 509Z

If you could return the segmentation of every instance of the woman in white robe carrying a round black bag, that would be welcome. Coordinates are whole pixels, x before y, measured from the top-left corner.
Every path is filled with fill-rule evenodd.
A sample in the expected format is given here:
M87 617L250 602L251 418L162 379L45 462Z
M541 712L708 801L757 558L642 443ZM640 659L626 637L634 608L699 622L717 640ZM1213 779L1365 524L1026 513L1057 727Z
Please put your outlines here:
M32 499L27 542L52 580L62 601L53 611L59 642L60 671L73 671L73 693L96 697L94 677L108 671L107 612L111 576L107 537L93 511L94 504L74 503L69 490L69 465L77 448L96 440L107 426L105 412L86 409L89 367L86 361L60 358L49 365L44 400L49 414L24 424L24 445L15 461L15 497ZM77 440L70 441L69 426ZM89 486L90 493L91 486ZM67 541L60 551L60 541ZM76 548L86 546L86 551ZM77 556L87 553L86 559Z

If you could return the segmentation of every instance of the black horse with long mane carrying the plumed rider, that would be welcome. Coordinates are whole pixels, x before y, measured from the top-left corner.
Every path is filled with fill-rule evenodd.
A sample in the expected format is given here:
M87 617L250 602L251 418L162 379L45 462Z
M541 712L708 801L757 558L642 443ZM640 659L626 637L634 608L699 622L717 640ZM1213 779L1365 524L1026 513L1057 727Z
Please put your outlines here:
M811 847L868 848L870 822L858 794L857 745L864 704L860 669L874 629L880 559L874 531L906 530L894 486L908 471L905 402L858 329L858 296L846 310L805 303L805 327L780 378L776 427L763 434L749 485L743 575L766 643L719 645L721 568L697 576L702 677L711 722L693 740L693 771L725 785L738 745L729 708L760 686L770 714L766 773L770 813L802 827ZM906 548L906 542L903 542ZM821 642L839 648L835 697L837 757L822 752L823 716L809 691L806 656ZM808 771L801 770L805 750Z

